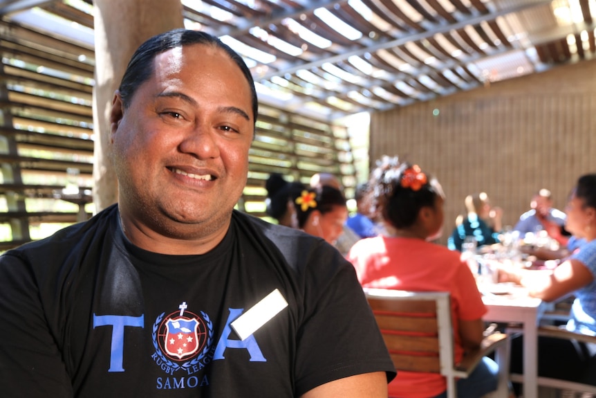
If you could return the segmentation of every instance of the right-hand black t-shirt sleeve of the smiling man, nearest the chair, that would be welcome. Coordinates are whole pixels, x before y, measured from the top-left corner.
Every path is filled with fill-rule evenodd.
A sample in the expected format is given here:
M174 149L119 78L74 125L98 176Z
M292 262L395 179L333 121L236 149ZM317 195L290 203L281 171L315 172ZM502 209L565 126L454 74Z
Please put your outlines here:
M321 249L306 271L296 395L355 374L384 371L393 379L393 362L353 266L337 251Z

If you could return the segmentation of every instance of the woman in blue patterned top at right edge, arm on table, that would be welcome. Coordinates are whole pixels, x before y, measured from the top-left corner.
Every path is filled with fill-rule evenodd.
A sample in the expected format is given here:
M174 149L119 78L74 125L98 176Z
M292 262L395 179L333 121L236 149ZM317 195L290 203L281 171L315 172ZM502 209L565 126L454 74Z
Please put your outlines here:
M596 174L579 177L565 210L565 228L584 243L552 270L502 264L499 281L521 284L530 296L548 302L575 296L566 329L595 336ZM522 344L521 338L512 341L512 372L522 372ZM541 337L538 352L539 376L596 386L596 344Z

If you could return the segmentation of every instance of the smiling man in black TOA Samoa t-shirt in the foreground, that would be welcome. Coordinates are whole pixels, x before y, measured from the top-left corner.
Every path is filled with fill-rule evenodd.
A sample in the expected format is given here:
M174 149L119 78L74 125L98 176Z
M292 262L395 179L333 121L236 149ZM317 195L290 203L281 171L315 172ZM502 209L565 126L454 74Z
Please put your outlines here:
M3 397L387 397L353 266L233 210L256 118L218 39L138 48L111 109L119 202L0 257Z

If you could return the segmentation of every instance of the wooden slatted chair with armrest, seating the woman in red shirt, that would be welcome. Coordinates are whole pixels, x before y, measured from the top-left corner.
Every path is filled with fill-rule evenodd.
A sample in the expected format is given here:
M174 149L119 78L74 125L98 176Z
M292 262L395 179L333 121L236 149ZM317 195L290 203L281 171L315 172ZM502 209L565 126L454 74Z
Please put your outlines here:
M490 334L481 348L454 363L454 336L448 292L364 289L398 370L440 373L447 379L447 398L456 398L456 378L466 378L482 357L496 353L498 389L490 397L509 395L509 350L506 334Z

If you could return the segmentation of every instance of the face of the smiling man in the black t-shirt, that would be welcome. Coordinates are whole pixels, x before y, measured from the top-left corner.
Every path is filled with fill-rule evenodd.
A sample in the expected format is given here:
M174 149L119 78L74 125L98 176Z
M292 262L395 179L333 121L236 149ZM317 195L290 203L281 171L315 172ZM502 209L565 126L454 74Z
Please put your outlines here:
M122 217L169 237L227 228L254 134L248 81L223 50L204 44L161 53L153 69L120 115L114 100Z

